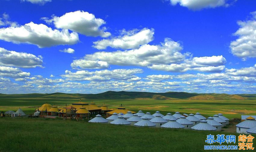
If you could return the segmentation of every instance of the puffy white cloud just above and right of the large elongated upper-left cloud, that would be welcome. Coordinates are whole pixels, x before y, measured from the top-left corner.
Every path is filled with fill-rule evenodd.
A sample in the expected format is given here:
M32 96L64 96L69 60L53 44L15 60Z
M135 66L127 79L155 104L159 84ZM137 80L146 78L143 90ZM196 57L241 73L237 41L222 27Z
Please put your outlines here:
M109 32L105 32L105 27L100 28L101 25L106 24L103 19L95 18L94 14L81 10L66 13L61 17L53 15L52 19L46 17L42 19L48 23L53 22L57 28L69 29L86 36L109 37L111 35Z

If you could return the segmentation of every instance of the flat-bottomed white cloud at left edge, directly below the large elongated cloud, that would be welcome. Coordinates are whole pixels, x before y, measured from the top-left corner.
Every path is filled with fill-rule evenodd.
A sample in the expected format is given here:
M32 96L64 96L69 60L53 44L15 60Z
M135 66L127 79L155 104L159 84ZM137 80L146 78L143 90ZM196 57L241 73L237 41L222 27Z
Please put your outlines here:
M36 57L33 54L8 51L0 47L0 65L2 66L16 66L22 68L42 67L42 56Z

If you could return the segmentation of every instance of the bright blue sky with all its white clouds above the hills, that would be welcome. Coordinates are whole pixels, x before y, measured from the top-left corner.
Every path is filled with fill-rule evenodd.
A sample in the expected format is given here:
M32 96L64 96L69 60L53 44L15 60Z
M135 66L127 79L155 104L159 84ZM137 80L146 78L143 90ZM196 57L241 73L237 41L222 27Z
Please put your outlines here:
M0 5L0 93L255 93L254 0Z

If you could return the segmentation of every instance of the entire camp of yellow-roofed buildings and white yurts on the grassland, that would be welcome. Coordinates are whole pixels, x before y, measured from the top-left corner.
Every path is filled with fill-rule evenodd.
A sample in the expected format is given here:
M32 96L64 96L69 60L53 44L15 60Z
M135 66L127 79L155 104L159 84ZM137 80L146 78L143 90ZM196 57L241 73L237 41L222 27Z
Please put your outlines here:
M11 114L11 111L7 111L5 114ZM154 114L143 113L139 110L137 113L131 110L127 110L125 107L120 106L117 108L108 109L108 106L103 104L98 107L95 103L76 102L70 106L58 108L51 104L43 104L39 107L34 116L58 116L64 119L81 119L89 118L90 114L96 115L95 118L90 118L91 123L110 123L115 125L132 125L137 127L161 127L161 128L176 128L176 129L192 129L192 130L212 130L220 131L222 127L229 124L229 119L219 113L213 115L213 117L205 118L200 113L194 114L175 114L167 113L162 115L159 111ZM105 114L106 119L99 114ZM18 109L16 113L12 113L11 116L23 116L25 113ZM237 133L256 133L256 121L255 116L243 116L241 123L236 125Z

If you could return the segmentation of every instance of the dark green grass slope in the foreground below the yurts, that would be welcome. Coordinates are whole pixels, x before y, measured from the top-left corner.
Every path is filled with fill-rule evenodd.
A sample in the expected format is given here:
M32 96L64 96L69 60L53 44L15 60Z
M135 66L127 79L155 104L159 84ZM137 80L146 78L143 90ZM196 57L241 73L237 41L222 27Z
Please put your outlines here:
M230 134L41 118L0 118L0 133L1 152L204 151L208 134Z

